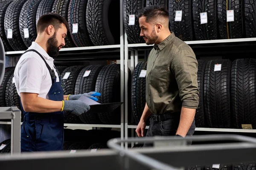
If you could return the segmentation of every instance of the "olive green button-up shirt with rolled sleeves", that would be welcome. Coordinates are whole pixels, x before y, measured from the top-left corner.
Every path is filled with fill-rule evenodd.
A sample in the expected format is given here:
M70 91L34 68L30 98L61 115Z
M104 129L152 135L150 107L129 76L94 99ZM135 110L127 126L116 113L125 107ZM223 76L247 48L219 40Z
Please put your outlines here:
M153 114L198 107L198 62L185 42L169 35L148 56L146 102Z

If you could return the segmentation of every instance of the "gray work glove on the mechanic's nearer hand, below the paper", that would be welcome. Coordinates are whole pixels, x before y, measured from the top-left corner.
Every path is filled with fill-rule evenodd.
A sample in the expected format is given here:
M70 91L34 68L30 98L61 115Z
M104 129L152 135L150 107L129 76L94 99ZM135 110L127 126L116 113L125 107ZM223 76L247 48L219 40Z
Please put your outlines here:
M81 100L65 100L63 111L70 111L71 113L79 116L84 112L90 110L90 106Z

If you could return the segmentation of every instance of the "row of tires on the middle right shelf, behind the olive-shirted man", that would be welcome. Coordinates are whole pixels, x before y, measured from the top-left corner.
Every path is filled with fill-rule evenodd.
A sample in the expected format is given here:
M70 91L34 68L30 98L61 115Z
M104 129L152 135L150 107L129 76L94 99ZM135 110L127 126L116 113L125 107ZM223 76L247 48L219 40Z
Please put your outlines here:
M214 71L221 65L221 71ZM147 62L139 62L134 70L131 100L136 123L145 107ZM198 60L199 105L196 127L256 129L256 59Z

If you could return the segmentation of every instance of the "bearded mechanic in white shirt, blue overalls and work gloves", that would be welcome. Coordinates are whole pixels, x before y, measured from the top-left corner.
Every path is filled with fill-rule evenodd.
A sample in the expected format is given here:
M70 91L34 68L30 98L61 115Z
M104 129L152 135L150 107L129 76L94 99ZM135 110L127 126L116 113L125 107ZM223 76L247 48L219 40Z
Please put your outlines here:
M61 77L52 57L65 45L68 23L58 14L45 14L37 23L35 42L20 57L14 73L24 121L21 152L63 150L64 111L81 115L90 106L81 95L97 100L99 93L63 95Z

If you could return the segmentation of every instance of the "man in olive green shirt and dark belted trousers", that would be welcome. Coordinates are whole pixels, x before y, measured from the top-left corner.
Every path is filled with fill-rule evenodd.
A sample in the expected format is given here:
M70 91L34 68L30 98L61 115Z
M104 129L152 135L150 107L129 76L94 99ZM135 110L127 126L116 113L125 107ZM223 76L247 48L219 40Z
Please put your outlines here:
M137 126L137 135L192 136L198 107L198 62L192 49L169 31L165 8L148 6L140 11L141 33L147 45L154 44L148 56L146 105ZM183 21L181 21L183 22Z

